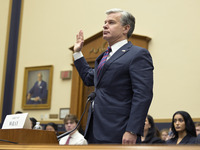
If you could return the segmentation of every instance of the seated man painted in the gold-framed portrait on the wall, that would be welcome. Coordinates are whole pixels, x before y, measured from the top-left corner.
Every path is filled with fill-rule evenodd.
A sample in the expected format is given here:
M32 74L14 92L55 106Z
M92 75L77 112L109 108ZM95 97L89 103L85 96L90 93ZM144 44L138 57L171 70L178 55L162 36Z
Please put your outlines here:
M27 95L27 104L45 104L47 102L47 83L42 80L42 74L38 73L38 81L30 89Z

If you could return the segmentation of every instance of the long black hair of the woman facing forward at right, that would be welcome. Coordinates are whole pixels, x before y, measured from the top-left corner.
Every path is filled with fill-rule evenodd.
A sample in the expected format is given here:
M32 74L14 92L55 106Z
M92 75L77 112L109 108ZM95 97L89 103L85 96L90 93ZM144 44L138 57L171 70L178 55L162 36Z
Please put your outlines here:
M174 136L178 137L178 132L176 131L176 129L174 127L174 117L177 114L180 114L183 117L184 122L185 122L185 130L186 130L187 134L190 136L196 137L196 130L195 130L194 122L193 122L190 114L187 113L186 111L177 111L174 113L174 115L172 117L171 129L172 129Z

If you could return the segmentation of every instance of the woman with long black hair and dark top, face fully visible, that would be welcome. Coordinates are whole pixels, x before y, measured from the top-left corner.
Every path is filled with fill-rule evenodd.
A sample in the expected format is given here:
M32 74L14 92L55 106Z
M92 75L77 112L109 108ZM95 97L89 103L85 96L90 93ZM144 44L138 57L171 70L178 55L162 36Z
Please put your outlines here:
M174 137L166 141L168 144L195 144L196 131L194 122L185 111L177 111L172 117L171 129Z

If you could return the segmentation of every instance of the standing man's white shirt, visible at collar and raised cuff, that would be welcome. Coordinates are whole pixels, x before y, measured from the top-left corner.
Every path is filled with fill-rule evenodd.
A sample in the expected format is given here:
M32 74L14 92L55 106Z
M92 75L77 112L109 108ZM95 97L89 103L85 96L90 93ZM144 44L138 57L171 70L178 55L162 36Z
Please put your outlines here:
M117 43L115 43L114 45L111 46L111 49L112 51L109 53L108 57L107 57L107 60L118 50L120 49L122 46L124 46L125 44L127 44L128 41L127 40L122 40L122 41L119 41ZM80 52L75 52L73 54L74 56L74 60L78 60L80 59L81 57L83 57L83 53L80 51Z

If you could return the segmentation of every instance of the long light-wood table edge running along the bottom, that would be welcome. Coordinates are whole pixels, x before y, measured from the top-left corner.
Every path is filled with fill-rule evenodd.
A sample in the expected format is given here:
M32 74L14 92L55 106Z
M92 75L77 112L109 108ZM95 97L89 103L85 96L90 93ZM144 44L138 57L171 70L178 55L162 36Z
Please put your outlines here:
M0 150L199 150L200 145L85 145L85 146L59 146L59 145L0 145Z

